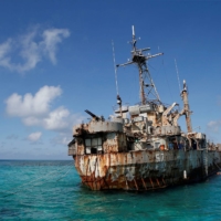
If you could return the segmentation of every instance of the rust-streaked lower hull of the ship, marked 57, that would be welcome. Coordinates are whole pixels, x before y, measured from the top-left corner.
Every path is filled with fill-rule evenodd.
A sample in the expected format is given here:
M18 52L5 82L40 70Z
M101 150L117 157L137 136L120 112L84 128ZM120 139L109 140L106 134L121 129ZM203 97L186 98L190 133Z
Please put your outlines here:
M202 181L219 171L221 152L202 150L137 150L76 155L82 182L92 190L152 190Z

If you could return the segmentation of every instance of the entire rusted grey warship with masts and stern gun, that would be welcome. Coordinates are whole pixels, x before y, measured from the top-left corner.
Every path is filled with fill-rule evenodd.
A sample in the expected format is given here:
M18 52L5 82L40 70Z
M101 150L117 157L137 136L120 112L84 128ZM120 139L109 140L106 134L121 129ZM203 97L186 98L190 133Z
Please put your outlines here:
M186 82L183 108L178 112L176 103L165 105L147 65L162 53L146 55L149 48L137 49L136 43L133 27L131 60L116 66L138 67L140 103L125 106L117 95L110 119L85 110L92 119L73 128L69 155L82 182L92 190L152 190L206 180L220 170L221 151L206 134L192 130ZM178 125L182 115L187 133Z

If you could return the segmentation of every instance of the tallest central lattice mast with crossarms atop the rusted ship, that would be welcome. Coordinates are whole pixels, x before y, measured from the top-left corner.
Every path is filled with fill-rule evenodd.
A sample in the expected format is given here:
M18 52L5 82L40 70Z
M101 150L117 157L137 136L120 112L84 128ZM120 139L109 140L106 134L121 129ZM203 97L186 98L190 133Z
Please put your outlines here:
M143 52L145 51L149 51L150 48L146 48L146 49L137 49L136 48L136 36L135 36L135 28L134 25L131 27L131 34L133 34L133 39L131 39L131 45L133 45L133 51L131 51L131 61L124 63L124 64L118 64L117 67L119 66L126 66L128 64L137 64L138 70L139 70L139 87L140 87L140 99L141 99L141 104L146 104L148 102L148 97L151 95L154 95L154 101L157 101L159 103L160 98L159 98L159 94L157 92L157 88L154 84L154 81L151 78L151 75L149 73L148 66L147 66L147 61L149 59L152 59L155 56L159 56L162 55L164 53L158 53L158 54L154 54L154 55L147 55L145 56L143 54ZM145 80L148 81L148 83L145 83ZM147 88L147 93L145 93L145 88Z

